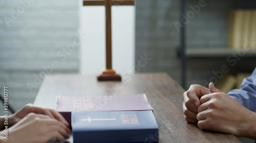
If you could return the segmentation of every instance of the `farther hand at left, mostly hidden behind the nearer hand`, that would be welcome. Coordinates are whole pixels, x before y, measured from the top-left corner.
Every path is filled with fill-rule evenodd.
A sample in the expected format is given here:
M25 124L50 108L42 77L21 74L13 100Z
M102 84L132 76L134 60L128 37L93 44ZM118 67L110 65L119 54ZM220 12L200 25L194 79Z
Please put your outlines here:
M24 117L26 117L29 113L37 113L41 115L47 115L52 119L57 119L61 123L65 124L67 127L69 127L68 122L58 113L57 111L53 109L48 108L41 108L34 106L32 104L27 104L23 108L19 109L17 112L15 112L13 115L9 117L9 125L12 126L18 121L22 120Z

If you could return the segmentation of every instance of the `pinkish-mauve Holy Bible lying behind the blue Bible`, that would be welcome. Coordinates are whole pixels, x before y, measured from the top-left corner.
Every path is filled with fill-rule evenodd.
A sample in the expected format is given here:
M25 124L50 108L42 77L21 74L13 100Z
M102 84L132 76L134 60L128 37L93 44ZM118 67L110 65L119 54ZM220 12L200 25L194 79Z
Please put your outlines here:
M69 123L72 111L136 111L151 110L145 94L120 96L57 96L56 111Z

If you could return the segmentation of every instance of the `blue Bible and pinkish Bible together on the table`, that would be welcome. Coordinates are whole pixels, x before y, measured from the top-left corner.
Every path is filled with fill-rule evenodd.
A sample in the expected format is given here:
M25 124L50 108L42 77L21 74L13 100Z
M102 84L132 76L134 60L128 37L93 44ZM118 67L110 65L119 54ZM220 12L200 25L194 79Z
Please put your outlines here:
M158 142L158 125L145 94L57 96L56 110L72 125L73 142Z

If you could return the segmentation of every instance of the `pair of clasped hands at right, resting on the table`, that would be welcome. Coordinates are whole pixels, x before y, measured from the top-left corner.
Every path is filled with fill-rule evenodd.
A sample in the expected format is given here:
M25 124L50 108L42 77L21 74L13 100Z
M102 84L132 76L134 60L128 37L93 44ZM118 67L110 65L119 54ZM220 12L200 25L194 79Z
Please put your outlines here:
M188 123L197 123L201 129L256 138L250 132L255 127L255 112L245 108L232 97L215 88L191 85L184 94L183 112Z

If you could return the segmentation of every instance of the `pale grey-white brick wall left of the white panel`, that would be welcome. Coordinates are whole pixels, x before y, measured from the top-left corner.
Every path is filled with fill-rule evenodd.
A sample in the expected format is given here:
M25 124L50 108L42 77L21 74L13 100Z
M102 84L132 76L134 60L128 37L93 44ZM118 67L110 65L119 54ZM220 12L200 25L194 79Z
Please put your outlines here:
M34 102L46 73L78 73L79 2L0 0L0 90L14 109Z

